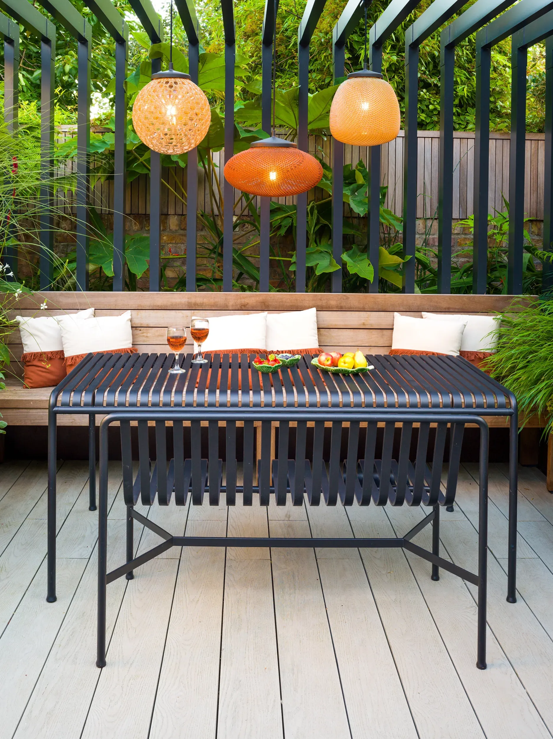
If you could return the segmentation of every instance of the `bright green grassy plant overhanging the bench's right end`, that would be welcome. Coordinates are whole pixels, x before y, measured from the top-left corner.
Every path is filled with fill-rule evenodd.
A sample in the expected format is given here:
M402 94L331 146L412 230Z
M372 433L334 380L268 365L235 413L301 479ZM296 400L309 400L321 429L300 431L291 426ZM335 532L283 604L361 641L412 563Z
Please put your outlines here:
M553 301L515 302L500 315L497 350L486 360L487 369L515 393L526 418L535 412L549 417L544 432L549 435L553 430Z

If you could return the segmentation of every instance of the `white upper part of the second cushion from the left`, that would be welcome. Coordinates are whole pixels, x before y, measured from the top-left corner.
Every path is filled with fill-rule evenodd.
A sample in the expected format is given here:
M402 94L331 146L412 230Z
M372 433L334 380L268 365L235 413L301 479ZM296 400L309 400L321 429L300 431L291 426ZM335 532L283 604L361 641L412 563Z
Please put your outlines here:
M60 326L66 357L128 349L133 345L130 310L121 316L102 316L83 321L72 321L71 316L56 316L56 321Z

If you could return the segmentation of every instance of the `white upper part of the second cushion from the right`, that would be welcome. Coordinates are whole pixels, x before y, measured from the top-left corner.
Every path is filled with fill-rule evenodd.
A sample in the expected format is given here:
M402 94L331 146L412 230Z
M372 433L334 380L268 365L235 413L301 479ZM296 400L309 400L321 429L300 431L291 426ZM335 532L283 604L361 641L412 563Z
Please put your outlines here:
M459 355L466 321L414 319L394 313L392 349Z

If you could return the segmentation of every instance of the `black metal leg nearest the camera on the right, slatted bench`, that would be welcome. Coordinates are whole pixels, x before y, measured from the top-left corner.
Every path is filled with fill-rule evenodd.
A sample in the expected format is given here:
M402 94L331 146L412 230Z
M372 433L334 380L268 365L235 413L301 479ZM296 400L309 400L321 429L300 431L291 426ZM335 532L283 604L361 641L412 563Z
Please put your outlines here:
M479 524L478 524L478 654L476 667L486 665L486 598L487 598L487 474L489 431L480 427Z

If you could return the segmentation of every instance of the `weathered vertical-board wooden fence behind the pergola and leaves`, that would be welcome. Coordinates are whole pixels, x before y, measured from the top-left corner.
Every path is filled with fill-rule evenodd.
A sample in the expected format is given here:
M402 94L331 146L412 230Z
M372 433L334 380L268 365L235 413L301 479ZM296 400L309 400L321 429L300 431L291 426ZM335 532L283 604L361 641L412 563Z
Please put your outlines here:
M72 126L60 126L60 139L74 135ZM401 215L403 210L403 131L389 144L382 147L380 182L388 185L386 207ZM309 150L311 154L324 157L330 164L333 141L331 137L310 137ZM431 218L437 215L438 208L438 160L439 160L439 132L418 132L419 158L417 168L417 218ZM488 211L503 211L502 194L508 197L509 192L509 148L508 133L490 134L490 194ZM526 134L526 171L524 188L524 212L526 217L543 220L543 166L544 166L544 136L543 134ZM223 151L215 152L213 160L215 171L222 177L224 166ZM359 160L366 163L367 147L346 146L344 162L355 166ZM473 183L474 183L474 134L471 132L456 132L453 134L453 218L467 218L473 214ZM161 188L161 213L168 215L184 215L186 205L178 197L186 189L186 172L180 166L167 168L163 171L163 179L170 184ZM176 179L176 182L175 182ZM218 188L215 175L212 177L213 197L217 197ZM201 167L198 167L198 208L211 211L209 188ZM222 185L222 183L221 183ZM235 191L234 200L240 197ZM317 200L327 197L327 194L316 188L314 196ZM277 199L275 199L277 200ZM279 202L293 203L294 198L279 198ZM92 197L93 205L100 213L109 213L113 209L114 183L106 180L97 183ZM58 206L64 204L72 207L72 194L67 200L58 200ZM259 206L259 203L257 203ZM347 207L347 206L344 206ZM140 175L127 185L125 212L129 215L144 215L150 212L150 180L146 175Z

